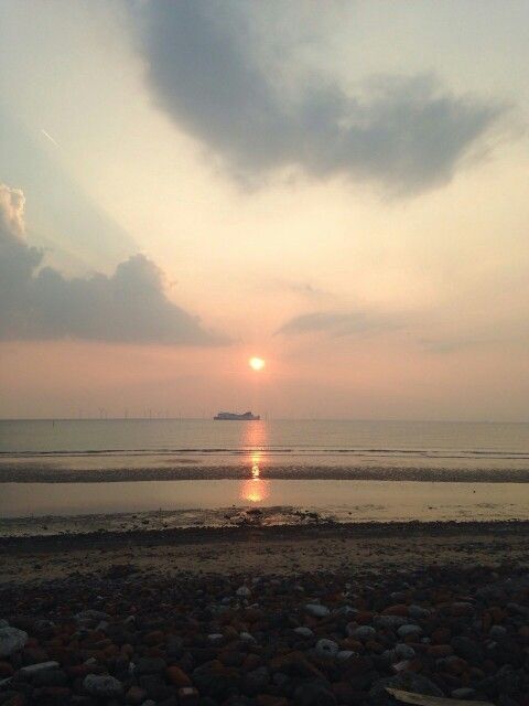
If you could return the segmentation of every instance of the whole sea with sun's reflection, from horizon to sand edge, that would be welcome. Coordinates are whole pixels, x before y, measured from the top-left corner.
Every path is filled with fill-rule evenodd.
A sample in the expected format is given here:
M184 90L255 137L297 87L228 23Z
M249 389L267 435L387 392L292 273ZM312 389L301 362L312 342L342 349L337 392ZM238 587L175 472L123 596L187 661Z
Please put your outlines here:
M529 520L529 424L0 420L0 535Z

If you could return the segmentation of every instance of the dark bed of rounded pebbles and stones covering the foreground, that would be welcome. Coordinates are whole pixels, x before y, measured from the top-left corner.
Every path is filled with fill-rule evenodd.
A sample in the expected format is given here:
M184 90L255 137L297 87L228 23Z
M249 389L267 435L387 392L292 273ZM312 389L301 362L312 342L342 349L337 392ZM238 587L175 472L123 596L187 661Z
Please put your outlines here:
M0 630L25 635L0 657L0 704L388 706L393 686L529 706L528 589L521 568L440 566L0 586Z

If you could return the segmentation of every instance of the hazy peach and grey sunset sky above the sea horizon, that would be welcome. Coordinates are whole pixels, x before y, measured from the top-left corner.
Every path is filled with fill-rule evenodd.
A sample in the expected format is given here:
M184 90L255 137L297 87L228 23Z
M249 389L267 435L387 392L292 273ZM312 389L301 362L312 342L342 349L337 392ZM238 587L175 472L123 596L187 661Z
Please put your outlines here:
M0 417L529 421L528 24L3 0Z

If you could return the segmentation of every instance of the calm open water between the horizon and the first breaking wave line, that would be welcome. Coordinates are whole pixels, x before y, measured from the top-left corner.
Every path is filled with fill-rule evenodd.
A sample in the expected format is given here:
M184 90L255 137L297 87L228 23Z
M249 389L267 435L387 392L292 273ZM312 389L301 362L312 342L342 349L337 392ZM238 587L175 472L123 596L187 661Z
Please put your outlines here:
M203 419L0 420L0 453L6 454L191 454L223 459L248 450L270 461L292 456L346 462L434 459L529 463L528 424L421 421Z

